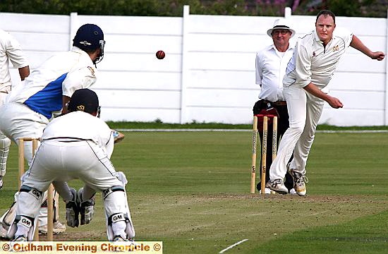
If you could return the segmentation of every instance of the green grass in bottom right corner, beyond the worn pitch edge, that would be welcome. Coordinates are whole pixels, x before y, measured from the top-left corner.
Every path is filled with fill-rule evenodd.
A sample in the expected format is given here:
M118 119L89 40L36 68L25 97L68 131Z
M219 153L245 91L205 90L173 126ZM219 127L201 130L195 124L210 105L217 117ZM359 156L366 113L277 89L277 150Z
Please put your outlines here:
M388 212L348 223L294 232L255 248L253 253L274 253L273 246L287 246L289 253L386 253Z

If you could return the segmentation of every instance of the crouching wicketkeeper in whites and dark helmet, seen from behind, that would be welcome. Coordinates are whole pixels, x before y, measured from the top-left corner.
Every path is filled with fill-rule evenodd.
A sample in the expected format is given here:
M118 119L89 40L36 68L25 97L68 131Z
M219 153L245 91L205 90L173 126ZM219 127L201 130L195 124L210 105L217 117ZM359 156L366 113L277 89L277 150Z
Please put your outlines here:
M53 183L66 202L68 226L88 224L94 195L102 191L109 241L129 241L135 229L126 197L126 177L116 172L110 157L114 135L99 112L98 97L88 89L76 90L68 103L70 113L59 116L44 129L42 143L30 169L23 176L16 219L8 230L13 241L32 241L42 193ZM67 181L80 179L79 191Z

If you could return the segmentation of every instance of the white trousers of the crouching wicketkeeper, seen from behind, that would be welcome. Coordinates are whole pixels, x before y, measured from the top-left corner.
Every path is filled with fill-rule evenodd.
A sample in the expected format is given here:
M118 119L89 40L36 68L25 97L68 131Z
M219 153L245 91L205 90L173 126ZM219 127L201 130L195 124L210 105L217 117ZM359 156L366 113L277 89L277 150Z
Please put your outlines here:
M45 140L40 145L22 183L43 192L51 182L72 179L80 179L95 191L123 185L101 147L92 141L59 140Z

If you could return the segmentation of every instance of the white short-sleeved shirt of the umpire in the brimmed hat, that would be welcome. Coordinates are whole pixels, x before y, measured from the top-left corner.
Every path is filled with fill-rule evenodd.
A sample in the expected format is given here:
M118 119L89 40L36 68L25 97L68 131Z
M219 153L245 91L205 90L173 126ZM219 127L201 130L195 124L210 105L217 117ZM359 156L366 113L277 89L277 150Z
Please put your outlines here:
M260 99L284 100L282 80L292 52L291 45L286 52L279 52L272 44L256 54L256 84L261 85Z

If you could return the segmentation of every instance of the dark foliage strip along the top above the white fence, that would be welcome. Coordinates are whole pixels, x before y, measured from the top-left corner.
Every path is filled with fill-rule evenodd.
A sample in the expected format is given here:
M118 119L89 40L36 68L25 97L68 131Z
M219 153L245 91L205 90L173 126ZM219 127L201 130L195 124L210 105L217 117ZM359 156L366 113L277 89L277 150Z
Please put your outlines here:
M1 0L0 11L109 16L182 16L183 6L190 13L207 15L284 16L315 15L329 8L337 16L387 16L388 0Z

